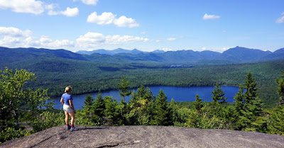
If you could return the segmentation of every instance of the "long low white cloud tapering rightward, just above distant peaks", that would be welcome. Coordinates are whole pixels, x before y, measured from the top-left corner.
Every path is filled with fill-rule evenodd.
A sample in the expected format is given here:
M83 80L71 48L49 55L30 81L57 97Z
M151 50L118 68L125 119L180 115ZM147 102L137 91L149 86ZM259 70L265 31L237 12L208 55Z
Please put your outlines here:
M96 47L98 45L116 45L125 42L147 42L148 38L133 35L103 35L102 33L86 33L77 38L79 47Z

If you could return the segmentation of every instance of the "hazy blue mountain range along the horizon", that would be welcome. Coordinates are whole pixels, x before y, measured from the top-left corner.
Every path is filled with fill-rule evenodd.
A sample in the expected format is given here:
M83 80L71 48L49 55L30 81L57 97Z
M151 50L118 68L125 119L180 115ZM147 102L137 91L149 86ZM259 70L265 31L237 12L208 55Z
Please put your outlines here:
M70 52L69 50L49 50L44 48L9 48L0 47L0 66L21 62L27 59L60 58L100 63L140 63L156 62L163 64L227 64L245 62L263 62L284 59L284 48L275 52L234 47L222 53L205 50L168 51L155 50L142 52L140 50L93 50Z

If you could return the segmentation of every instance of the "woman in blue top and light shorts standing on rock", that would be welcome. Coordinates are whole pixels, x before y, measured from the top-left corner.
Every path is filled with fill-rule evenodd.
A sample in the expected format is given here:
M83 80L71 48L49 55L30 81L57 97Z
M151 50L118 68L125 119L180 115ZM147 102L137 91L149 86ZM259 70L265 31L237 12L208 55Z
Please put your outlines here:
M67 130L78 130L76 127L74 127L75 122L75 109L72 102L72 87L67 86L65 88L65 93L62 94L60 102L63 104L63 110L65 112L65 123L66 123L66 129ZM71 116L71 126L69 125L69 116Z

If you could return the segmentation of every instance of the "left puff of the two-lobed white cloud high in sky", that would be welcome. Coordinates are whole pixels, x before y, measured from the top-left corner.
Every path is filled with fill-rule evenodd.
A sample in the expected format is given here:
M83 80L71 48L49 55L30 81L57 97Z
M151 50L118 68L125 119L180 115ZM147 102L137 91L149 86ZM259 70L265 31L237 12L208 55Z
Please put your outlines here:
M88 18L88 23L97 23L99 25L108 25L110 23L113 23L116 15L114 15L111 12L104 12L102 15L97 16L97 12L91 13Z

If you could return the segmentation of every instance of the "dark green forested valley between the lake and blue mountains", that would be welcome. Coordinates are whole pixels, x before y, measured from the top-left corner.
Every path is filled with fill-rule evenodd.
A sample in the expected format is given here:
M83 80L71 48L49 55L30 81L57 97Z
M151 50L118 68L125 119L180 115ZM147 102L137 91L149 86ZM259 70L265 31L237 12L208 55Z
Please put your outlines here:
M40 59L37 59L40 60ZM30 64L31 63L31 64ZM108 64L48 59L13 63L9 69L33 72L37 81L28 82L25 89L48 89L48 96L59 97L65 86L76 89L73 94L117 90L121 76L127 76L130 89L144 86L214 86L218 83L239 86L251 72L258 81L258 93L266 108L275 106L278 93L275 79L284 68L283 60L246 64L195 65L175 67L157 63Z

